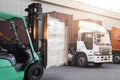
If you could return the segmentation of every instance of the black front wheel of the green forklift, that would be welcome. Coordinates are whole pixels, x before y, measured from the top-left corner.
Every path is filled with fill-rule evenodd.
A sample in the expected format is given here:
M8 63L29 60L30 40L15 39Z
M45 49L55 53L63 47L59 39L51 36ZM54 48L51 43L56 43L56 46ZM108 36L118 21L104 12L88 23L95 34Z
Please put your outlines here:
M39 63L34 63L28 67L24 80L39 80L43 75L43 66Z

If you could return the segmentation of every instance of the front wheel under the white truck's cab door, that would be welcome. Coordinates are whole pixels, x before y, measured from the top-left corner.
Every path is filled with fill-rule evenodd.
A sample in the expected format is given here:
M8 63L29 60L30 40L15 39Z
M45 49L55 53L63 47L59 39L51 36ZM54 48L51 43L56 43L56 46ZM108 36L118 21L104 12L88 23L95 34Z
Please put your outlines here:
M76 64L77 66L80 67L87 67L88 66L87 56L85 54L78 54L76 57Z

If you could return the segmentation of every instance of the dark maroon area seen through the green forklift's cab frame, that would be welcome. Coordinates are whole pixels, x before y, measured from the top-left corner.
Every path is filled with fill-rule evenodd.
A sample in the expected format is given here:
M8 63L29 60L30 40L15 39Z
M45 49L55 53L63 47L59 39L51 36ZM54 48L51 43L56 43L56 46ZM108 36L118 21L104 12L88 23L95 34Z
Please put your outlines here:
M18 43L29 45L29 41L21 19L0 21L0 43Z

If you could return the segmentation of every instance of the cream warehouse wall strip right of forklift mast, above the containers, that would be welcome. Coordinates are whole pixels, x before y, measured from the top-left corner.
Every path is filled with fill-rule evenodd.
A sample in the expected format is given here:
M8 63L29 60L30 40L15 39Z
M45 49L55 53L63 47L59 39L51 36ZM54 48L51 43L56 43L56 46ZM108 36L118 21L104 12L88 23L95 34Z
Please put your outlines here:
M57 12L62 12L62 13L66 13L66 14L72 14L74 20L86 19L86 18L100 20L100 21L102 21L102 25L108 30L110 30L113 25L120 26L120 20L117 20L117 19L104 17L104 16L87 13L87 12L83 12L83 11L77 11L77 10L73 10L73 9L63 8L63 7L59 7L59 6L54 6L54 5L50 5L50 4L43 4L43 11L44 12L57 11Z

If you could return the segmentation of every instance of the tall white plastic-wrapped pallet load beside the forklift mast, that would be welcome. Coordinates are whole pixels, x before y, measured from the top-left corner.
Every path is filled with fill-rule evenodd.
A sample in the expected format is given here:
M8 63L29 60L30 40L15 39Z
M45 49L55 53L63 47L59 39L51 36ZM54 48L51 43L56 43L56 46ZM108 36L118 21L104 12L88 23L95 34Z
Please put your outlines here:
M47 67L63 65L66 62L65 24L48 17L47 27Z

